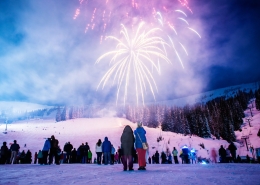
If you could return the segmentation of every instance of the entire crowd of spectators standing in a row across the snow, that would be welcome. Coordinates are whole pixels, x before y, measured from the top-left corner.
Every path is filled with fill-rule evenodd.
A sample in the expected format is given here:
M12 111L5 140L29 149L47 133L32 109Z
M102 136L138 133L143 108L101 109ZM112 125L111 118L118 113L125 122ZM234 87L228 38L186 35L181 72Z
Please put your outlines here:
M92 151L88 142L82 143L77 149L70 142L65 143L63 150L60 148L59 141L52 135L44 142L42 150L35 152L34 164L41 165L60 165L61 163L95 163L98 165L123 164L124 171L132 171L133 163L138 163L138 170L146 170L147 164L179 164L180 158L182 164L196 164L203 162L203 159L197 157L194 149L183 146L181 150L173 147L172 151L167 148L161 154L156 151L152 157L149 156L149 146L146 140L146 131L141 122L137 123L135 131L127 125L121 135L121 146L114 148L108 137L102 142L98 139L95 145L96 156L93 158ZM220 163L241 162L240 156L236 156L236 146L231 143L226 149L221 145L219 149ZM216 152L212 151L213 161L217 162ZM20 146L16 140L8 149L7 143L3 142L0 155L1 164L31 164L32 153L28 150L20 152ZM214 159L215 158L215 159ZM204 162L208 162L204 159Z

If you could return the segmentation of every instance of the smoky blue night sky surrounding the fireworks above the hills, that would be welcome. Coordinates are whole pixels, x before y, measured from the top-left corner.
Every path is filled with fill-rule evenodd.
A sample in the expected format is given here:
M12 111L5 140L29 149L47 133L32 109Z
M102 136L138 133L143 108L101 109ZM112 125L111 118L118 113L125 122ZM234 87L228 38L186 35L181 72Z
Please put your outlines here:
M188 14L202 38L189 34L182 39L189 52L183 57L185 69L172 58L171 67L162 65L162 74L155 74L157 101L260 81L260 1L189 0L189 6L193 14L180 5L174 8ZM97 90L108 63L95 65L114 47L100 44L98 31L84 33L92 12L82 8L74 20L78 7L77 0L0 1L0 100L115 102L116 86ZM118 19L111 20L107 34L119 35L117 25ZM150 93L146 96L153 101Z

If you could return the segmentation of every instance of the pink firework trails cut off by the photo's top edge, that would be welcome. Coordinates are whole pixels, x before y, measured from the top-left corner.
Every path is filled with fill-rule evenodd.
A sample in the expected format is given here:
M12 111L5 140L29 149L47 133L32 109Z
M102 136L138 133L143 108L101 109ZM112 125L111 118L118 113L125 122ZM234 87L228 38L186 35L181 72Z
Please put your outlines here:
M101 38L107 30L117 30L121 23L133 27L144 21L156 27L157 12L164 14L167 22L174 24L172 20L176 16L176 7L192 13L187 0L79 0L73 18L77 19L82 14L86 20L85 33L95 31Z

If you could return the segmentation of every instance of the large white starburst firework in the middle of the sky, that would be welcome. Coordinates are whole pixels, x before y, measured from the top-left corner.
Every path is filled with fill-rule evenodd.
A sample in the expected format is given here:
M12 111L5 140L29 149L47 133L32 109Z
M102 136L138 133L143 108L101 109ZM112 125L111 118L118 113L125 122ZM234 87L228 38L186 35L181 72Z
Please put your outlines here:
M142 103L144 104L144 95L148 89L151 91L154 99L154 92L157 91L155 79L151 73L150 66L160 72L160 59L171 63L167 57L165 46L168 44L161 38L159 28L153 28L149 31L143 29L144 23L141 23L135 34L131 36L124 25L121 25L121 35L123 39L109 36L106 39L112 39L117 42L116 49L109 51L99 57L96 63L99 63L102 59L111 56L110 69L101 79L98 88L102 85L102 89L105 87L107 81L114 77L113 83L117 82L117 100L120 96L120 92L123 91L124 104L127 100L128 89L131 79L134 79L134 87L136 94L136 102L139 103L139 94L141 95ZM158 59L158 63L154 61L154 58Z

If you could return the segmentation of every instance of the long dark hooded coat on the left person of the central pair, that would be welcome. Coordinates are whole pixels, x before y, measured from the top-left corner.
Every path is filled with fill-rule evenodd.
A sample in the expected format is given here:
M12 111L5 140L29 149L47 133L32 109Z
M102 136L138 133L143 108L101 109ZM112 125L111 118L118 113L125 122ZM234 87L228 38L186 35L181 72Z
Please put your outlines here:
M121 136L122 155L125 156L133 155L134 142L135 142L135 138L134 138L133 130L129 125L127 125L125 126Z

